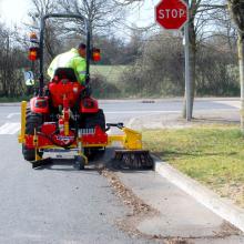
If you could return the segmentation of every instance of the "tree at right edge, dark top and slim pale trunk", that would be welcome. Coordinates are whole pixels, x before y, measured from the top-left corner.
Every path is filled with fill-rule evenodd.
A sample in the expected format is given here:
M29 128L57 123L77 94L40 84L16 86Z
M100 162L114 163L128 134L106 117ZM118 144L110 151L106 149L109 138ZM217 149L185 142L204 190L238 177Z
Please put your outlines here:
M241 130L244 132L244 2L243 0L228 0L228 10L238 32L238 67L241 84Z

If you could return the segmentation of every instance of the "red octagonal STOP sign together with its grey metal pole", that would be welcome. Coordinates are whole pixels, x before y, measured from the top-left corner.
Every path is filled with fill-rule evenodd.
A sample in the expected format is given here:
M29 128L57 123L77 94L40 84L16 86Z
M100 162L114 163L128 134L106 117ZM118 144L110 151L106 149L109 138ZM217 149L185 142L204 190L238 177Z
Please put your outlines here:
M191 121L189 0L161 0L155 7L155 21L165 30L181 30L184 26L186 120Z

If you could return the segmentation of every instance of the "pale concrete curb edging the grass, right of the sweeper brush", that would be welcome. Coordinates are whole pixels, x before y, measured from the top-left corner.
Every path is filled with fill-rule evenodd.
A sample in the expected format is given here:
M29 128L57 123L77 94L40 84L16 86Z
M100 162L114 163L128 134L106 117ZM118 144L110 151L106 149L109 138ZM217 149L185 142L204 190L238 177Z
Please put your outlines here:
M194 197L197 202L213 211L244 232L244 210L221 199L217 194L203 186L195 180L182 174L167 163L154 157L154 170L160 175Z

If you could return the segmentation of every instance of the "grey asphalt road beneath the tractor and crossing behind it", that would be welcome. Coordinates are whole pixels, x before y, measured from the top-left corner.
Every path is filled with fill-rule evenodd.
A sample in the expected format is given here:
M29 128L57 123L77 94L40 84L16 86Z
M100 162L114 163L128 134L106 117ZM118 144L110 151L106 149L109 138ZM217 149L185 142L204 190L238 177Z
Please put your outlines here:
M100 102L108 122L149 121L152 116L180 115L180 100ZM196 113L234 114L235 100L200 100ZM131 237L116 221L130 214L106 179L93 167L78 172L68 163L32 170L17 142L20 106L0 105L0 243L154 243Z

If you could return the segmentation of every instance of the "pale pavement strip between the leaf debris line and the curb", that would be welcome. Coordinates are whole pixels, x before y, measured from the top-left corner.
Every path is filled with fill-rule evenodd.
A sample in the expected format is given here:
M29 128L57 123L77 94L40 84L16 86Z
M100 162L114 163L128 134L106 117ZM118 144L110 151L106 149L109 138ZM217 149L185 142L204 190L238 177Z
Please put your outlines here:
M242 244L244 234L153 171L116 172L121 182L159 211L135 228L148 236L194 244Z

